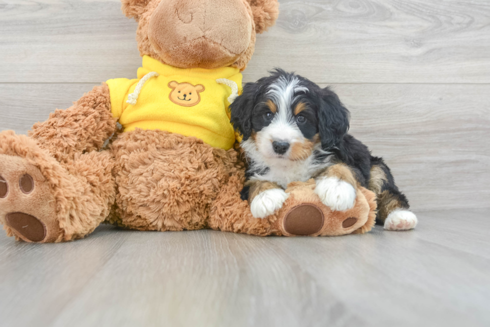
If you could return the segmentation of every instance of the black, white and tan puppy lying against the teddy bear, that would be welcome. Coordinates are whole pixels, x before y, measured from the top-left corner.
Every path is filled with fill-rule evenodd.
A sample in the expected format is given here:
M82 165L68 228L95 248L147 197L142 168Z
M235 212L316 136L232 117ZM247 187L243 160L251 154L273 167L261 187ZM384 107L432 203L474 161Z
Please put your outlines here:
M241 197L255 218L281 208L288 183L314 178L315 193L332 210L352 208L361 185L376 193L376 222L385 229L417 224L383 160L347 134L349 111L329 88L274 70L245 84L231 105L231 122L243 135L248 167Z

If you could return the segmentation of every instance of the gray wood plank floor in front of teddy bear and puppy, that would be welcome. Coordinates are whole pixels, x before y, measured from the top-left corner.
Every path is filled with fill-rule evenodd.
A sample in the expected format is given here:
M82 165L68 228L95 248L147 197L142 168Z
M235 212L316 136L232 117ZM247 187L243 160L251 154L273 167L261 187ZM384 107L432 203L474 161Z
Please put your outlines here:
M324 238L0 235L0 326L488 326L489 209Z

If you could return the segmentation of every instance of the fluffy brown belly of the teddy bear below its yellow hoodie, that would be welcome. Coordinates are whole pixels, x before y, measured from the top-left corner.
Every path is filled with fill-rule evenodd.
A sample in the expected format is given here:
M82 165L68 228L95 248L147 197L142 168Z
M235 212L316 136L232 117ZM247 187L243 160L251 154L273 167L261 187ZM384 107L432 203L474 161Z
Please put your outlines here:
M136 129L111 145L117 225L152 231L207 227L209 208L232 165L226 151L193 137Z

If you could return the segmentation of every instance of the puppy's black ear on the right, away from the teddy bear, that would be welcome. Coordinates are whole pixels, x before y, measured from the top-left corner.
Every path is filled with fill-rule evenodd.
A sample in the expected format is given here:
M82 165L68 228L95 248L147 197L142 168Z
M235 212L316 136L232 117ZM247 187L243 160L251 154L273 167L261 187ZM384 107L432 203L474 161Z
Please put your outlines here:
M328 87L321 90L318 129L321 148L335 147L349 130L350 113Z

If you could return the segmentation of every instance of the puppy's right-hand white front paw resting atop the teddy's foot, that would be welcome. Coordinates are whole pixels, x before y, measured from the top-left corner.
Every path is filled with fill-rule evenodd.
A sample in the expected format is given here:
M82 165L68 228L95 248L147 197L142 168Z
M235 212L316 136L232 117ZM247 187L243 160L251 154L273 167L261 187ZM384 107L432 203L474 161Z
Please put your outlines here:
M354 187L336 177L318 179L315 193L320 197L321 202L333 211L344 211L354 206Z

